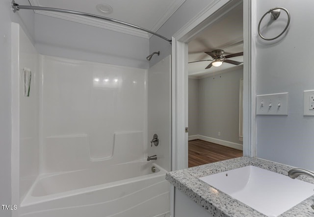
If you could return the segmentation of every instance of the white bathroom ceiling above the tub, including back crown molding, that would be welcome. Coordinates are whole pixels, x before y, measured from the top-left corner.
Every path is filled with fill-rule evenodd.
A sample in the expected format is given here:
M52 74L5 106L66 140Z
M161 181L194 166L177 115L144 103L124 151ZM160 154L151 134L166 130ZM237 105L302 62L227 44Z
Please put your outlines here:
M33 6L54 7L95 14L138 25L154 32L168 20L184 1L185 0L29 0L30 4ZM110 5L113 9L112 13L104 14L100 12L96 9L96 5L98 4ZM149 38L151 36L151 34L138 29L94 18L51 11L37 10L35 13L90 24L143 38Z

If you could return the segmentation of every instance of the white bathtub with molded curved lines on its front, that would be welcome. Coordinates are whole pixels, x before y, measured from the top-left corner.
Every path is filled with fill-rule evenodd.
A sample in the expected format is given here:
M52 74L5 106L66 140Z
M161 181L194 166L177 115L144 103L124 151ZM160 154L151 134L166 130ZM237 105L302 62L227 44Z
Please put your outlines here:
M19 213L21 217L168 216L170 185L165 174L144 160L43 174L26 194Z

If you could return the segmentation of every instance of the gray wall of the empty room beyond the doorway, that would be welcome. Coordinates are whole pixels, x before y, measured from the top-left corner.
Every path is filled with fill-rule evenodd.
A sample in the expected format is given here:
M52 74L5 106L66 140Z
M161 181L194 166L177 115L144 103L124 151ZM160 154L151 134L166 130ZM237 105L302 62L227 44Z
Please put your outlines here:
M237 144L239 86L243 69L203 79L189 79L189 135L202 135ZM218 132L221 136L218 136Z

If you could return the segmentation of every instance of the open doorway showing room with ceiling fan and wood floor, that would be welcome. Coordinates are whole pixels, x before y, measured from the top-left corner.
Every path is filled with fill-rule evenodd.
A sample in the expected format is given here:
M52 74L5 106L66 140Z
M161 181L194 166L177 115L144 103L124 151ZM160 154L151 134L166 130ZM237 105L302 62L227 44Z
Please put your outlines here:
M196 34L187 45L188 167L240 157L243 3Z

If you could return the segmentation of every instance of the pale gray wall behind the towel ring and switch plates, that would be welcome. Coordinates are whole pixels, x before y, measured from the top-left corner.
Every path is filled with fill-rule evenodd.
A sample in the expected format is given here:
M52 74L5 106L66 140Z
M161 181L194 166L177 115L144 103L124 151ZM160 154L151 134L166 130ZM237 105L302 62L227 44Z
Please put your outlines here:
M303 116L303 91L314 89L314 28L309 25L314 20L314 1L257 1L257 22L275 6L289 10L290 27L281 40L265 42L256 34L256 94L288 92L288 116L257 116L257 156L314 170L314 117ZM283 30L287 15L282 12L280 17L262 31L265 36Z

